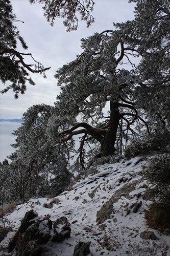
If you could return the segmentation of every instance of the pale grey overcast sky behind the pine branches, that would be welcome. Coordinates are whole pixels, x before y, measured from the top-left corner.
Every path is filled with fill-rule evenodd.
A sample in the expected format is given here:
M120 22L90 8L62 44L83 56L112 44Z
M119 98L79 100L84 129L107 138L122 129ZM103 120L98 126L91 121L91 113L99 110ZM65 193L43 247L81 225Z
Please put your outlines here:
M95 0L94 2L92 14L95 17L95 23L87 29L85 22L79 22L77 31L66 32L62 19L56 19L54 27L50 26L43 16L43 5L38 3L31 5L28 0L11 1L13 13L24 22L18 22L16 26L29 47L27 52L32 53L33 57L44 67L51 67L51 69L46 71L46 79L40 74L31 74L36 86L28 84L26 94L19 95L19 99L14 99L14 93L11 90L1 95L1 118L21 118L22 114L35 104L53 105L56 95L60 92L57 80L54 78L55 71L74 60L76 55L82 52L81 38L86 38L95 32L111 30L113 22L121 23L134 18L135 4L128 3L128 0ZM25 52L20 45L17 50ZM1 82L1 90L4 87ZM15 140L11 132L20 126L18 123L10 122L6 125L1 124L1 161L6 157L7 152L9 152L8 155L11 153L10 144Z

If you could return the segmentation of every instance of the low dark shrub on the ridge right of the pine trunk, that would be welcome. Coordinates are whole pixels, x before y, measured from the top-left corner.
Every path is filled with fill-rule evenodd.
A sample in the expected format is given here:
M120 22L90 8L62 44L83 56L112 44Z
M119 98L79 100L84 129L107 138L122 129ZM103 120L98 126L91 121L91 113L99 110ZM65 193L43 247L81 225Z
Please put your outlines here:
M170 132L154 134L133 140L125 150L125 157L136 157L150 151L170 153Z

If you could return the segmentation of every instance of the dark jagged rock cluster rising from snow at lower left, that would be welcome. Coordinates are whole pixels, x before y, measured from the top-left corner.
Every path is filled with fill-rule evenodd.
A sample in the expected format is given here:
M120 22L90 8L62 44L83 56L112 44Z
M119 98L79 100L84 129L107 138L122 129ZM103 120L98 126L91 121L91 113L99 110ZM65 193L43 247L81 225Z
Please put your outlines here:
M39 256L43 254L43 245L48 241L59 243L70 237L71 229L66 217L57 219L53 224L50 216L35 219L37 216L33 210L26 212L18 231L9 243L9 252L15 248L17 256Z

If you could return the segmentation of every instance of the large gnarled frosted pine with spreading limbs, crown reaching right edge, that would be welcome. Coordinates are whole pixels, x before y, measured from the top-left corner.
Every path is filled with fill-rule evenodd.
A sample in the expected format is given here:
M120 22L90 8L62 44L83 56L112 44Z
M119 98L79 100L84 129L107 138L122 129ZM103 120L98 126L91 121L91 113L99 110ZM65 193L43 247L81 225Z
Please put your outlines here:
M82 39L82 54L56 72L56 140L81 135L80 159L90 142L108 156L133 135L169 129L169 8L133 2L134 20Z

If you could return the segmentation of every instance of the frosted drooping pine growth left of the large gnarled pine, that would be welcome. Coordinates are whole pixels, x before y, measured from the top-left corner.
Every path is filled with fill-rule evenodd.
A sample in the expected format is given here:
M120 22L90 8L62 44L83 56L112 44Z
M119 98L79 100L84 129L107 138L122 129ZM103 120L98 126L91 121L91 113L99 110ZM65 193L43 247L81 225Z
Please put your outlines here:
M56 196L70 182L67 151L48 135L48 120L53 107L34 105L23 114L23 123L14 131L17 136L11 163L1 165L0 187L3 200L25 200L33 196Z

